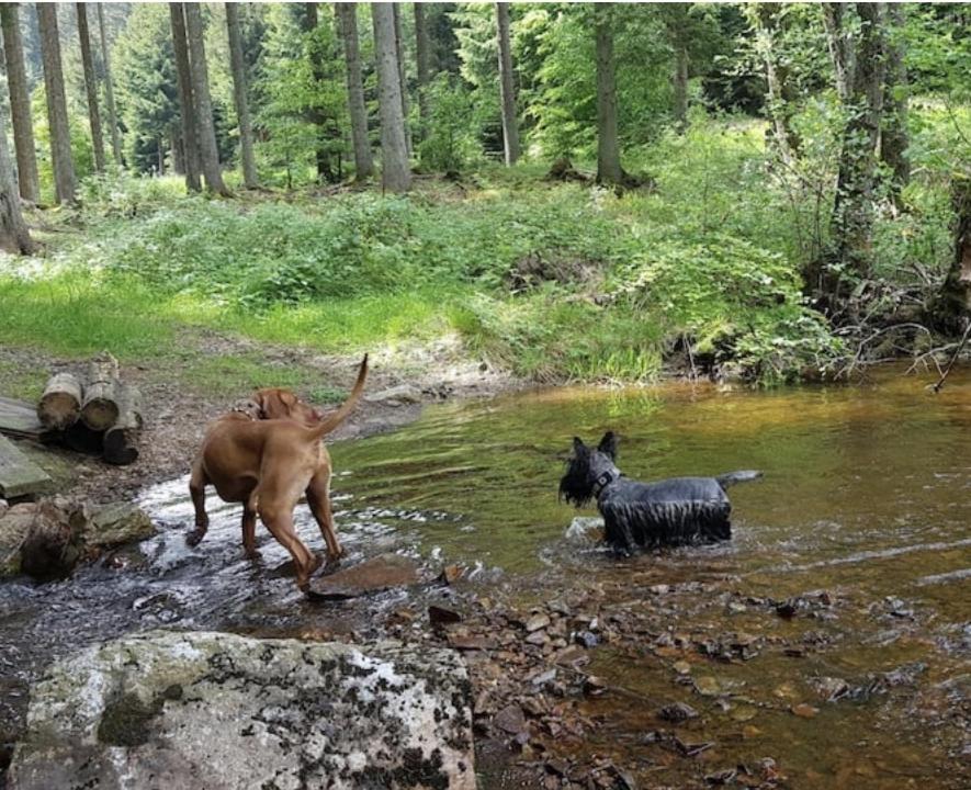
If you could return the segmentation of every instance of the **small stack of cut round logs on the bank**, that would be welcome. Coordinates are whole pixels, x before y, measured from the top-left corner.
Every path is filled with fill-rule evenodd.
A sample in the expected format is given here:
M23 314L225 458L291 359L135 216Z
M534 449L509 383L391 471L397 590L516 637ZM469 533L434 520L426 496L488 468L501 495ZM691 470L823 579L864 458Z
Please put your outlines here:
M111 354L89 362L84 376L50 376L37 403L37 419L77 452L116 465L138 459L142 394L122 382Z

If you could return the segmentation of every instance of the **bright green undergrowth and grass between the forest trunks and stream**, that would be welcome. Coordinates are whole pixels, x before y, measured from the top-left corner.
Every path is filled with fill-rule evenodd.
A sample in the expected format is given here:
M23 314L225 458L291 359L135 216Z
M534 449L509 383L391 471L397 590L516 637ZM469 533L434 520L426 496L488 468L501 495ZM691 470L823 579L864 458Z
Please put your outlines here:
M799 274L826 207L772 188L763 139L758 123L695 119L633 153L653 187L620 196L535 163L422 179L408 196L213 200L172 179L90 180L43 259L0 262L0 340L134 360L187 326L336 352L458 334L541 381L641 381L671 362L791 380L840 353ZM930 229L887 218L878 244L937 271L946 201L913 192Z

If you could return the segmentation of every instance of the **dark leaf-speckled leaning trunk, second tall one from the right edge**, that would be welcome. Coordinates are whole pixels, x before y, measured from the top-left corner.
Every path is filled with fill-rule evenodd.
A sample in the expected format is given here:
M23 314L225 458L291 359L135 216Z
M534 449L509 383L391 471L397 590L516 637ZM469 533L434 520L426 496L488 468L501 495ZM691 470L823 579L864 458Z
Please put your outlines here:
M861 26L833 207L836 261L859 276L870 273L876 149L883 109L883 5L857 3Z

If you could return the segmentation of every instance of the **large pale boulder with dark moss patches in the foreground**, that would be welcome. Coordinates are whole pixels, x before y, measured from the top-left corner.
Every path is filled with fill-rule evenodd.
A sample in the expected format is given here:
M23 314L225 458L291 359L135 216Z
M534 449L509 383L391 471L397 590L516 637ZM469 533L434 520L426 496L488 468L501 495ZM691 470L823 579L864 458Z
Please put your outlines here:
M150 631L56 663L32 690L11 790L474 790L455 653Z

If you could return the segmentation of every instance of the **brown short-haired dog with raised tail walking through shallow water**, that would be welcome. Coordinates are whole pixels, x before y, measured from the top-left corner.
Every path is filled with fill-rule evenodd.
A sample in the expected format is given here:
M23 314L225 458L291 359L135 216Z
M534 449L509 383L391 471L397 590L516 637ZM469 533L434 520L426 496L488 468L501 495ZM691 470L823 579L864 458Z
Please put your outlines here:
M219 417L206 429L189 479L195 507L195 529L187 542L196 545L206 533L205 487L213 485L219 498L242 503L242 548L258 555L256 521L290 552L296 565L297 586L305 590L321 560L311 553L293 528L293 510L306 494L314 519L327 543L328 560L341 555L330 512L330 454L320 441L351 413L364 391L365 354L350 397L330 415L321 415L289 390L260 390L246 409Z

